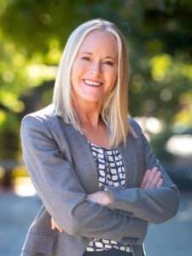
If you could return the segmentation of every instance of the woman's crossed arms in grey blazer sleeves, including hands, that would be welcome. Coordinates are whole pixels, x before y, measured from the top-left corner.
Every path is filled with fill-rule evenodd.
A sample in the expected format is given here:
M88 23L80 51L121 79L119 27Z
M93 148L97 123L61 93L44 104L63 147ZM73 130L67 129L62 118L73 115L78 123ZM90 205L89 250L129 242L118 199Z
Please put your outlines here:
M55 125L55 121L51 123L50 129L48 122L41 116L28 116L21 125L26 166L38 195L49 215L53 217L53 229L57 228L58 224L58 227L69 235L96 236L114 241L122 241L122 237L129 233L138 237L137 243L141 244L148 223L160 223L175 215L177 188L155 160L148 143L143 144L143 139L137 140L137 149L141 152L143 145L146 148L144 152L148 155L145 157L145 163L146 169L149 170L145 172L140 188L107 187L107 191L86 195L73 166L64 159L55 141L56 137L60 142L57 134L61 129L59 125ZM64 133L62 136L63 141L67 142ZM67 148L67 145L65 147ZM64 152L67 150L65 147L62 148ZM137 154L140 154L139 152ZM139 163L143 166L142 161ZM131 212L132 215L125 216L113 211L114 209ZM54 219L56 223L53 222ZM114 229L116 232L113 232Z

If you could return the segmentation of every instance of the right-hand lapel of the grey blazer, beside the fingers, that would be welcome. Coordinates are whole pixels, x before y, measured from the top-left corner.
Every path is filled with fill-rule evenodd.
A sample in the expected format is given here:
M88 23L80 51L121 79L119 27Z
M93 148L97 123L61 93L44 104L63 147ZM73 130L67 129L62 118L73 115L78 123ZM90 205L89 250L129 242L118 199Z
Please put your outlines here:
M125 166L125 188L133 188L137 181L137 154L130 136L126 146L119 145L119 152Z

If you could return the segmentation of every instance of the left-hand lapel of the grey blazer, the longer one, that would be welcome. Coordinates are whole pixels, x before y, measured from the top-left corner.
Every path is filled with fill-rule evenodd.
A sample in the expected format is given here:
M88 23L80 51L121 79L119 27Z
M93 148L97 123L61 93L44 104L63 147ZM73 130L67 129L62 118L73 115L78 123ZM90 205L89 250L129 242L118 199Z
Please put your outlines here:
M79 179L87 194L94 193L98 191L98 173L90 145L86 137L76 131L73 125L66 125L62 119L60 120L77 166L75 171L78 172Z

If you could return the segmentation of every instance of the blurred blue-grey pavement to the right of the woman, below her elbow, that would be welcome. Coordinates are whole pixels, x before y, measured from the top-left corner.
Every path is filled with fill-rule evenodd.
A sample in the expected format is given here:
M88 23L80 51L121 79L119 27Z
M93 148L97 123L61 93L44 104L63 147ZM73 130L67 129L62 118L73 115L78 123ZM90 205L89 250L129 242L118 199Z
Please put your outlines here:
M192 191L181 193L175 218L149 226L145 248L147 256L192 255Z

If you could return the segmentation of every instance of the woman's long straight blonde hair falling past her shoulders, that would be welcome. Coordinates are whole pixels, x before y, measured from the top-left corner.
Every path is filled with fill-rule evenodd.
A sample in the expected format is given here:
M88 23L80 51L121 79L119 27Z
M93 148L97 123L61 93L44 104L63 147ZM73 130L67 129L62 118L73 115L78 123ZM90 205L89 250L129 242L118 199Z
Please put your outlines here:
M90 20L78 26L67 40L61 57L60 67L55 79L53 103L55 113L76 130L84 134L79 125L79 119L73 108L71 73L73 61L79 52L84 38L92 31L104 30L111 32L118 44L118 78L102 104L101 116L107 126L110 147L126 143L127 131L131 127L127 121L128 115L128 57L123 38L119 29L107 20Z

